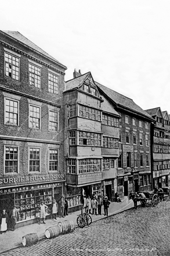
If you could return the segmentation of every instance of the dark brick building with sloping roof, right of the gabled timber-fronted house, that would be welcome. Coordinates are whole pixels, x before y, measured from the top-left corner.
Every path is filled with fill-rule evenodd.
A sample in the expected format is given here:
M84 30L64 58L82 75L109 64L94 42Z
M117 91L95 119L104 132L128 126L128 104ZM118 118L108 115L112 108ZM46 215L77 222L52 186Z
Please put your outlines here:
M107 97L120 116L120 141L117 169L118 194L151 190L151 116L125 97L99 83L99 92Z

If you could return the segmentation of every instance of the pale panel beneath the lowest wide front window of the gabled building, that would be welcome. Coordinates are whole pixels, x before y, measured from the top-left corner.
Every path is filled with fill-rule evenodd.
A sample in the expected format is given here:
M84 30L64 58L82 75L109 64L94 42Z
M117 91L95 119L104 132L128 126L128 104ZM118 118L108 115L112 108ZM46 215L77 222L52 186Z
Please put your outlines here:
M86 173L77 175L78 185L91 182L100 182L102 180L102 172Z

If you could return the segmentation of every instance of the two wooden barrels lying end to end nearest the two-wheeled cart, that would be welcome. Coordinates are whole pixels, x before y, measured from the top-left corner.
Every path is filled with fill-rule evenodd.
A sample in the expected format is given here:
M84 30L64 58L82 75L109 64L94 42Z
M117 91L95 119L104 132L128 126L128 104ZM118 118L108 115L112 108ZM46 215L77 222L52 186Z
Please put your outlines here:
M63 221L59 222L58 225L51 226L45 230L45 236L47 239L59 236L60 234L67 234L73 232L75 226L73 221Z

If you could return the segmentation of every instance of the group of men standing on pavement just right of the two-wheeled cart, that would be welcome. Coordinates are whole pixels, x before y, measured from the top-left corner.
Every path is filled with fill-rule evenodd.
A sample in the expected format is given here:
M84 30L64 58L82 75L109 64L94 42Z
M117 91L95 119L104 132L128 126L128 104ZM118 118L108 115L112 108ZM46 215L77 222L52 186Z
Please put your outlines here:
M92 197L84 194L82 204L85 208L87 214L95 214L95 215L102 215L102 205L104 207L104 215L108 216L108 207L110 205L110 201L108 200L107 194L105 194L104 198L102 195L93 194Z

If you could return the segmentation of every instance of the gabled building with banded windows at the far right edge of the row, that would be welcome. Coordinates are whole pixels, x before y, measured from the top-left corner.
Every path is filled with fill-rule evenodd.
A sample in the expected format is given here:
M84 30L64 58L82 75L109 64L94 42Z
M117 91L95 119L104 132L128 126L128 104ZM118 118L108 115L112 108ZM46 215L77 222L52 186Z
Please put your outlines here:
M155 120L151 127L152 134L152 169L153 187L165 188L170 186L170 120L167 111L160 107L147 109Z

